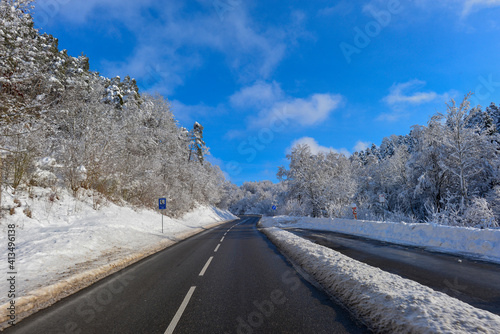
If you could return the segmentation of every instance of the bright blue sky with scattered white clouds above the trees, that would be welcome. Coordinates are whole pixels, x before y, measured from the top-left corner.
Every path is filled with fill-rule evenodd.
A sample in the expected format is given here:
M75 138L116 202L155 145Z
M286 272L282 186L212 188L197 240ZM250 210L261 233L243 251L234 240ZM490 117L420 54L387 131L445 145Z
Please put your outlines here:
M450 98L500 103L500 0L39 0L35 26L205 127L231 181L276 181L295 143L350 154Z

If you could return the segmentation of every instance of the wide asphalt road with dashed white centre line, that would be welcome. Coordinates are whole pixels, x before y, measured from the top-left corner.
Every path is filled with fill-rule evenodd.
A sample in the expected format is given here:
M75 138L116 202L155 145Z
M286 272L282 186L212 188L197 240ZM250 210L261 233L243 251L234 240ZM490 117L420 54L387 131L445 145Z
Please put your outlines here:
M366 333L243 217L148 257L5 333Z

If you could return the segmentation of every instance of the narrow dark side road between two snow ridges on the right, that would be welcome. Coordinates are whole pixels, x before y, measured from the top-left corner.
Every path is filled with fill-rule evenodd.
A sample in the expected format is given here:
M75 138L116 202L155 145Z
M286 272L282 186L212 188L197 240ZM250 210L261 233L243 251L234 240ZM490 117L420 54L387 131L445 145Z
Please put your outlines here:
M500 265L341 233L288 229L301 237L500 315Z

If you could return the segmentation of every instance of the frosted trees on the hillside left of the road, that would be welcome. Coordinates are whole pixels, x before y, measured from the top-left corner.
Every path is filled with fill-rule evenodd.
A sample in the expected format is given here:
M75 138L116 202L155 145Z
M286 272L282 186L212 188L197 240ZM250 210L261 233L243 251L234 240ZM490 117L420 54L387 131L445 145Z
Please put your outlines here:
M165 98L59 51L56 38L34 29L31 4L0 2L0 148L8 152L0 180L146 207L167 197L173 216L221 203L226 181L204 160L203 127L196 123L190 137Z

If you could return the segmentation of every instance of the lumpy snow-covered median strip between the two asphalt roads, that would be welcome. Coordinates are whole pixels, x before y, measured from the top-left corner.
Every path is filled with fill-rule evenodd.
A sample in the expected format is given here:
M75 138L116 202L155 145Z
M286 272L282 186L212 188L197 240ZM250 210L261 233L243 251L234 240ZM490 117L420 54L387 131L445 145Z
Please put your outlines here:
M263 226L269 226L264 222ZM498 333L500 317L277 227L262 229L377 333Z

